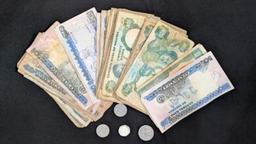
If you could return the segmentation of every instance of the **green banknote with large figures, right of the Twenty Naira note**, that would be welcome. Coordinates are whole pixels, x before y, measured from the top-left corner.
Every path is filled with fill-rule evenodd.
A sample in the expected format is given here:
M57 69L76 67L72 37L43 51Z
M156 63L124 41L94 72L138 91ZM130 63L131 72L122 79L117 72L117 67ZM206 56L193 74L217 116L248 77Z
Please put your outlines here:
M137 94L138 86L177 60L193 45L194 42L184 37L183 33L158 21L116 89L116 96L143 109Z

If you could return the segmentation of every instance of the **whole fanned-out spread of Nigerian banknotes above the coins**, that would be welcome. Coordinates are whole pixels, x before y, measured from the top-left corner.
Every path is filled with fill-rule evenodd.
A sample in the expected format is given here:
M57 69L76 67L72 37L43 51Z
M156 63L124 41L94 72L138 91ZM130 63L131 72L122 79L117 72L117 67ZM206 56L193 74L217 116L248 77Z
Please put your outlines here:
M18 72L51 96L75 126L115 103L150 116L161 132L234 89L187 31L154 14L89 9L39 33Z

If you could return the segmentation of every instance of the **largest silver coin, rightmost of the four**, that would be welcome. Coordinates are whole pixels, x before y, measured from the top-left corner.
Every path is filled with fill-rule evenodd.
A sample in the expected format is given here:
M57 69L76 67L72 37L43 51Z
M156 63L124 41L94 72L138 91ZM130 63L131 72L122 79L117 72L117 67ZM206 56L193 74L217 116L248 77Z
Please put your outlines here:
M154 130L151 126L144 125L140 127L138 134L143 141L150 141L154 137Z

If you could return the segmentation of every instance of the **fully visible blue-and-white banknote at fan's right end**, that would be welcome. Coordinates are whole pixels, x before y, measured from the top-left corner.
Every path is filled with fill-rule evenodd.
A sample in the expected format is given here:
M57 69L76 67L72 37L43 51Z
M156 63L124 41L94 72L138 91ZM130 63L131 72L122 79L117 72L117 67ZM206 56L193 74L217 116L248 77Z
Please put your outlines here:
M163 133L232 89L234 86L212 52L207 52L144 92L141 101Z

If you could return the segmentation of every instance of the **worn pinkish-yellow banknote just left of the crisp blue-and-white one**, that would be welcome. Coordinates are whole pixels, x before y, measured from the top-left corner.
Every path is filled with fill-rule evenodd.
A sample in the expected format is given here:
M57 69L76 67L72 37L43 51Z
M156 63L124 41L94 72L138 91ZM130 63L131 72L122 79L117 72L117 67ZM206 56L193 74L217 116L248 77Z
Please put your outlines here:
M54 27L58 24L60 23L55 22L26 52L37 60L41 67L75 99L82 109L86 110L93 103L54 32Z

